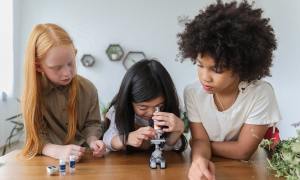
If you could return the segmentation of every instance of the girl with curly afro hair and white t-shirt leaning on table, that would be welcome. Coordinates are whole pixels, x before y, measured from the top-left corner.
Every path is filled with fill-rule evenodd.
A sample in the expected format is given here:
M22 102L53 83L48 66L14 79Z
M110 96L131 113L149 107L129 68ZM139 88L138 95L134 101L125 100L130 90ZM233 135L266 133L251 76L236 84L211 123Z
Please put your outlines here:
M247 1L209 5L179 34L199 81L184 90L191 128L190 179L215 178L212 155L249 159L280 119L270 76L276 39L263 10Z

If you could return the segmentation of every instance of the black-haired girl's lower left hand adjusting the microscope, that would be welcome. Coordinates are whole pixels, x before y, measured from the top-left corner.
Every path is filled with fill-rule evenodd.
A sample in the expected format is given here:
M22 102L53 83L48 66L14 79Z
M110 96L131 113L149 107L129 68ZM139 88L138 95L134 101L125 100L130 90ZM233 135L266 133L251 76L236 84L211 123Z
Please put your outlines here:
M152 127L141 127L129 133L127 144L133 147L140 147L144 140L150 140L154 136L155 130Z

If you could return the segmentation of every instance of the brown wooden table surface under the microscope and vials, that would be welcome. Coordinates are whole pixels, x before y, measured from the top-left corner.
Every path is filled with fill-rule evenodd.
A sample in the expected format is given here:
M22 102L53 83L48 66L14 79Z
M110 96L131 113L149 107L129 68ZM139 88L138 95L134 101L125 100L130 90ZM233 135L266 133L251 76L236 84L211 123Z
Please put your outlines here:
M150 169L148 153L124 154L113 152L104 158L94 158L87 153L76 164L76 172L71 175L68 170L64 177L49 176L46 166L58 166L58 160L46 156L37 156L31 160L17 158L19 150L0 157L0 179L187 179L191 163L190 150L182 154L165 152L166 169ZM249 161L230 160L214 157L216 179L225 180L264 180L276 179L267 168L266 155L258 150ZM274 173L274 172L273 172Z

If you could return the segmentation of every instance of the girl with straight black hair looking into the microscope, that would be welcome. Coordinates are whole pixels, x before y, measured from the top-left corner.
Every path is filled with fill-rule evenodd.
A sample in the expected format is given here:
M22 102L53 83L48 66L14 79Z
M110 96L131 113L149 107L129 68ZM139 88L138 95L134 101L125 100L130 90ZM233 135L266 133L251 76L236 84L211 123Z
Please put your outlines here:
M155 112L157 107L160 112ZM179 99L171 76L158 61L144 59L127 71L112 100L103 141L112 151L148 150L155 136L155 121L165 132L164 149L181 152L187 143L179 116Z

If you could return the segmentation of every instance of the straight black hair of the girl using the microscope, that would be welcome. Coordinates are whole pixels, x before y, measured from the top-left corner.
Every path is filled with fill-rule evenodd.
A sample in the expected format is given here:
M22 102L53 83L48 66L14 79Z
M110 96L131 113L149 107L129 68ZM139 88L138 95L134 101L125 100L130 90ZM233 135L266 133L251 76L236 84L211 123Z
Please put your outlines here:
M179 100L172 78L163 65L154 59L143 59L126 72L119 92L110 104L116 110L115 122L126 144L128 134L134 131L135 112L132 103L164 97L164 112L180 116Z

